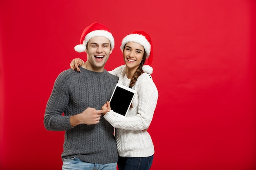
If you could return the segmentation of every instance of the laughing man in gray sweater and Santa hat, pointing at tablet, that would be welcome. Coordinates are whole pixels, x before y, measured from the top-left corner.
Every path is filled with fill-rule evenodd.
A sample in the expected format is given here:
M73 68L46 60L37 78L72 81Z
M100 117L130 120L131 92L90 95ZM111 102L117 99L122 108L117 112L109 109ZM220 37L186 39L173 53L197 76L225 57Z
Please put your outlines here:
M116 170L114 128L101 117L107 111L101 106L110 99L118 82L118 77L104 69L114 45L109 29L92 23L75 46L77 52L87 53L81 73L63 71L54 83L44 125L47 130L65 130L63 170Z

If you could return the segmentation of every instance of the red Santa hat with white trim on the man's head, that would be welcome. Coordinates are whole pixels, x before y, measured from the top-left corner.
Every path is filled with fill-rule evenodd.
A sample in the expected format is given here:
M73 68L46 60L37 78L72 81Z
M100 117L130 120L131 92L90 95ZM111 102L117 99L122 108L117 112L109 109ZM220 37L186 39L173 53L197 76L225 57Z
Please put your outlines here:
M83 33L80 39L80 44L74 47L75 51L79 53L85 52L88 41L91 38L97 37L97 36L108 38L108 40L110 41L111 49L114 49L115 40L113 35L110 33L110 30L108 29L108 27L98 22L94 22L83 30Z

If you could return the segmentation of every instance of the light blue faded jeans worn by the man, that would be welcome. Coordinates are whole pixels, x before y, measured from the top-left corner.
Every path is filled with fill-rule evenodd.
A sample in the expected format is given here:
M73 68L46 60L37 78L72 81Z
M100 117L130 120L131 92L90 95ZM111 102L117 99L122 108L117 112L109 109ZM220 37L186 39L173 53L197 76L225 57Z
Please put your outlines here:
M117 170L117 162L115 163L88 163L73 157L63 160L62 170Z

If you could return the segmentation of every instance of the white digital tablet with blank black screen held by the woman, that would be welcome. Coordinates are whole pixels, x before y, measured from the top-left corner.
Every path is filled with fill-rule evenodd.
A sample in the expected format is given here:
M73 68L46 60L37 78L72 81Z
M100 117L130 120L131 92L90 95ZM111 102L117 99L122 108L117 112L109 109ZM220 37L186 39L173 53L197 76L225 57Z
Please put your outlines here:
M132 104L134 95L135 90L117 83L110 98L111 109L118 113L119 117L125 117Z

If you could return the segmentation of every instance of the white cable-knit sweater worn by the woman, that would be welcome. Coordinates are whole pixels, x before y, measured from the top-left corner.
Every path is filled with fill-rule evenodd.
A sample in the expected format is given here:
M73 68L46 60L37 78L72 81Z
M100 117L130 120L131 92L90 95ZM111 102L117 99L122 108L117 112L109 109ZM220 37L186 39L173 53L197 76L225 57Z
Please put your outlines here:
M130 79L126 76L126 65L115 68L110 73L119 77L119 84L129 86ZM104 118L115 129L117 150L121 157L149 157L154 154L154 145L147 131L142 130L149 127L155 107L157 105L158 91L150 74L141 74L135 85L136 90L126 117L117 117L111 110Z

